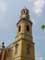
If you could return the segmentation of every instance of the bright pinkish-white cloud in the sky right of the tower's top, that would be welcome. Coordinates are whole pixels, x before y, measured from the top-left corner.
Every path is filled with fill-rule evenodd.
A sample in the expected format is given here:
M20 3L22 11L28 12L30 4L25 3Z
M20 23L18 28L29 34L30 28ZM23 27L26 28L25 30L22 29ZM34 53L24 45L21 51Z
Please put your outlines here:
M34 13L37 15L41 15L45 0L28 0L28 2L32 3L32 10L34 11Z

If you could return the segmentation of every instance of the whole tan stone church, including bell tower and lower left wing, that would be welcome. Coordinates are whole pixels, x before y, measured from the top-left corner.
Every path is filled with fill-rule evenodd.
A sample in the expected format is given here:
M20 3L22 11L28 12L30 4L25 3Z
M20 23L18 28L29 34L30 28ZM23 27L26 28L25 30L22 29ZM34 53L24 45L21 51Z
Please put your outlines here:
M2 44L0 60L35 60L32 22L27 8L21 10L16 25L15 41L7 48L4 47L4 43Z

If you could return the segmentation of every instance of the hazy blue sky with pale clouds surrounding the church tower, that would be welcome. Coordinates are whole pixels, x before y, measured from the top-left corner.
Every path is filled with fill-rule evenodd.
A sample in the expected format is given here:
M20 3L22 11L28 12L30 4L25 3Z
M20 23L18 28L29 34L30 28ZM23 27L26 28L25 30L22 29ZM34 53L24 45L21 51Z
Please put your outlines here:
M45 0L0 0L0 44L4 41L8 46L15 41L16 23L24 7L29 9L33 22L35 60L45 60L45 30L41 30L45 24Z

